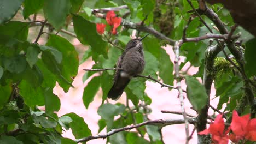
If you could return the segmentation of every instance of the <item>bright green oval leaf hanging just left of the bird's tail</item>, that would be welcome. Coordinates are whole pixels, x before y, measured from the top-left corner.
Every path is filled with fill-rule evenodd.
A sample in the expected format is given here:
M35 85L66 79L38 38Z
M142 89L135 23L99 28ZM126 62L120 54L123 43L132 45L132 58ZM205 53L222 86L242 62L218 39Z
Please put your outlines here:
M92 78L88 85L84 88L83 102L86 109L88 109L89 104L94 100L99 88L100 76Z

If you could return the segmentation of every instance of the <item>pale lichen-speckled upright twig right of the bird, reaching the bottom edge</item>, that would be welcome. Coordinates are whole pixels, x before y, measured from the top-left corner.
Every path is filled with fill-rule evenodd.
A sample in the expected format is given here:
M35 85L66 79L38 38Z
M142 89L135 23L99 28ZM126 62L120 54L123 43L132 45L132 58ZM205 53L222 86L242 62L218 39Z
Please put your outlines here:
M176 41L174 45L174 53L175 53L175 59L174 59L174 71L175 71L175 79L177 81L177 88L179 91L179 103L181 105L181 111L182 115L184 117L184 123L185 123L185 134L186 134L186 144L188 144L188 139L189 139L189 121L187 117L187 113L185 112L184 108L184 95L181 87L181 77L179 76L179 47L182 45L182 40Z

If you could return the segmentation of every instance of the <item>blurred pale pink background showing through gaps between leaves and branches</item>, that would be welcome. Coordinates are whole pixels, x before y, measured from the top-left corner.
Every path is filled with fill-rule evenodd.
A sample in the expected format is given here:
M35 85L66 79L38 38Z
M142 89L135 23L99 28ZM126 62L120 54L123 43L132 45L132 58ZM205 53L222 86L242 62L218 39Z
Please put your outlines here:
M86 47L79 43L77 39L74 39L71 41L72 44L75 45L79 52L79 57L82 57L83 52L86 50ZM171 61L174 60L174 53L171 46L165 47L167 53L171 57ZM182 59L182 58L181 58ZM184 59L184 58L183 58ZM84 121L88 124L89 128L91 129L92 135L97 135L98 131L98 125L97 122L101 118L97 114L97 109L101 105L101 97L102 97L102 91L98 91L97 95L94 98L94 101L89 105L88 109L85 109L85 106L83 104L83 91L84 87L87 85L87 83L90 81L90 79L86 80L85 83L82 82L82 77L85 73L83 69L90 69L92 65L94 64L94 61L89 59L88 61L84 62L79 66L78 75L75 77L73 86L74 88L70 88L67 93L63 92L62 88L60 86L56 86L54 88L54 93L58 95L58 97L61 100L61 109L59 112L57 112L57 115L62 116L66 113L74 112L77 113L80 117L84 118ZM189 64L186 64L184 67L184 70L189 67ZM198 68L191 67L188 71L188 74L193 75L197 72ZM110 84L109 84L110 85ZM177 90L173 89L172 91L169 91L168 88L162 87L158 83L153 83L150 81L146 82L146 93L150 98L152 98L152 104L150 105L150 108L152 109L152 113L150 113L149 118L150 119L171 119L171 118L182 118L181 115L173 115L173 114L167 114L167 113L161 113L161 110L172 110L172 111L181 111L181 107L179 104L179 99L177 98ZM182 81L182 87L185 89L184 81ZM212 92L211 92L211 98L215 96L216 92L214 90L214 87L212 86ZM117 101L109 100L110 103L117 103ZM125 93L123 96L118 100L120 103L126 102L126 95ZM211 105L216 107L218 104L218 98L211 100ZM196 112L194 110L191 110L190 103L187 98L184 100L185 110L187 113L191 113L196 116ZM209 114L212 114L213 111L210 110ZM194 125L189 125L190 133L193 130ZM100 134L106 133L106 129L102 130ZM165 143L184 143L185 142L185 128L184 124L178 124L178 125L168 125L167 127L164 127L162 129L163 139ZM71 139L75 139L72 131L68 130L63 134L64 137L68 137ZM193 138L190 140L190 143L196 143L197 142L197 136L196 133L194 133ZM96 139L91 140L88 142L90 143L106 143L106 140L104 139Z

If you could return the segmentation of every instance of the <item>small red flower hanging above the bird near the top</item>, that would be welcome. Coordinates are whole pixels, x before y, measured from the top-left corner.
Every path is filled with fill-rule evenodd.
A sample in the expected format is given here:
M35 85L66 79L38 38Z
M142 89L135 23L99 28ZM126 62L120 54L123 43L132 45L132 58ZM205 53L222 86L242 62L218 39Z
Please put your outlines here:
M121 17L115 17L114 11L108 11L106 15L106 21L108 25L113 26L111 33L117 34L117 28L120 26L122 18Z

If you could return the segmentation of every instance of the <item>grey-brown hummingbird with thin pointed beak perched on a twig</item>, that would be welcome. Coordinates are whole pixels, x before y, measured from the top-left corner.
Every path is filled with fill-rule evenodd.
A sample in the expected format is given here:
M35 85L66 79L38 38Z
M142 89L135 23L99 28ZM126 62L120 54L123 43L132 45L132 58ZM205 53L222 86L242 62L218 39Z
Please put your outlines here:
M142 38L131 39L117 62L117 69L114 75L113 86L108 92L108 98L118 100L130 80L142 73L145 67Z

